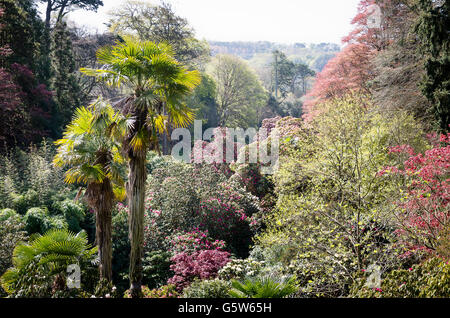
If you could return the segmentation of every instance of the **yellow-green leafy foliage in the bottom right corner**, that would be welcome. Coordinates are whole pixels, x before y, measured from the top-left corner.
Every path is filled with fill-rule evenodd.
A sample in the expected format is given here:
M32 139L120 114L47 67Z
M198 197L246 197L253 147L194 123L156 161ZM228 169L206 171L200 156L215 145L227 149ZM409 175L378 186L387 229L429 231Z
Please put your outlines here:
M396 269L384 274L381 288L365 286L367 274L361 273L353 284L350 296L358 298L448 298L450 296L450 264L432 257L409 269Z

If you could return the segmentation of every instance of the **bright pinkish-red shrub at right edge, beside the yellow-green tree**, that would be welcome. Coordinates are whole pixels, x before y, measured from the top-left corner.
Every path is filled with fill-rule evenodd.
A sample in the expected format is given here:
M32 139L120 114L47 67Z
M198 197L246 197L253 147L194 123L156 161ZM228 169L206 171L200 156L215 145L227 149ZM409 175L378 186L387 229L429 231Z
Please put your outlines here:
M379 175L397 175L407 181L406 196L397 202L401 228L397 233L412 249L436 250L450 221L450 134L441 145L415 154L412 147L390 148L392 154L407 154L404 167L386 167Z

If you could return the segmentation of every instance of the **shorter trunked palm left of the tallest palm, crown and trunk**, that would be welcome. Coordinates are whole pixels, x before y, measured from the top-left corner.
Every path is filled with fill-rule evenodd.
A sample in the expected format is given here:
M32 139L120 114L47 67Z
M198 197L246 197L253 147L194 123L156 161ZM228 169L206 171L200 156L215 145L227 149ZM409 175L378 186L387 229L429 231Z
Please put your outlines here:
M98 99L88 108L78 108L63 138L55 142L58 149L53 163L69 167L65 182L86 185L84 198L96 215L100 278L108 281L112 279L111 212L114 200L125 198L125 160L119 141L126 125L126 118Z

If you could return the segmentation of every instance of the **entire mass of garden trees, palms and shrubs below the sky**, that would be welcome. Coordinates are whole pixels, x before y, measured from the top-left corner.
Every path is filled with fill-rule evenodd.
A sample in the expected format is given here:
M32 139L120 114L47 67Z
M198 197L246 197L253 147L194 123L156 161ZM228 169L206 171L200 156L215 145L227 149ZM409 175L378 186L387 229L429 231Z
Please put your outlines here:
M37 2L0 0L0 297L450 296L450 1L362 0L342 50ZM194 119L214 138L177 161ZM273 174L238 160L275 140Z

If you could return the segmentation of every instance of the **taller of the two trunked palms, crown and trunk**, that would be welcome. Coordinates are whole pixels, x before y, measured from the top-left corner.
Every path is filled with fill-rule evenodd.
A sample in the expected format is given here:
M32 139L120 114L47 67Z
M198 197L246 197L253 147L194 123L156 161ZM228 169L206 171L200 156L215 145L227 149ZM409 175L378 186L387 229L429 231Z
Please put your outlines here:
M130 283L131 296L139 297L142 281L144 243L144 196L148 150L158 150L158 134L171 127L186 127L193 112L184 104L185 96L199 83L200 74L189 71L173 57L164 43L139 42L125 38L115 46L97 51L101 69L81 71L108 85L130 91L117 106L133 118L124 148L128 155L129 175L127 197L129 205Z

